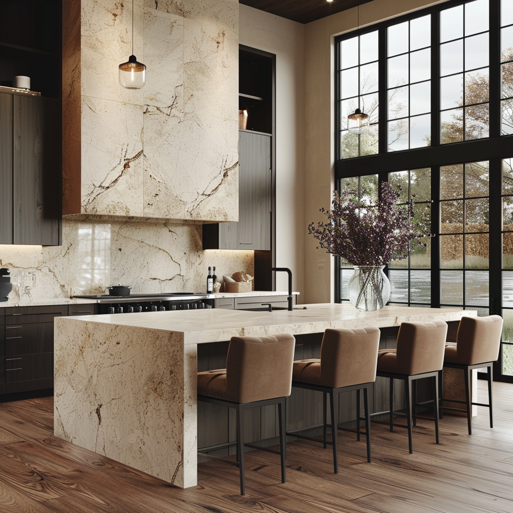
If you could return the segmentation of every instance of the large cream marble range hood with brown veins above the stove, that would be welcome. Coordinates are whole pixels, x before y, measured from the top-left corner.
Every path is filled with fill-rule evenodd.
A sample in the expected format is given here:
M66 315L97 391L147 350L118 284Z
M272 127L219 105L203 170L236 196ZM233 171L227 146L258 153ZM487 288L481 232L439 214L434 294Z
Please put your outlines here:
M238 1L63 4L63 213L237 221Z

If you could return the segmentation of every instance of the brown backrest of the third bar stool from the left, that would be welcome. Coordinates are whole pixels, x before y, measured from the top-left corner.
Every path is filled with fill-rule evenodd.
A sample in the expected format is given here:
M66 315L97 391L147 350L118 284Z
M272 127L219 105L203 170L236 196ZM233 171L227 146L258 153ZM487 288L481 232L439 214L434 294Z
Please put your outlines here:
M397 372L412 375L441 370L446 336L444 321L401 323L397 336Z

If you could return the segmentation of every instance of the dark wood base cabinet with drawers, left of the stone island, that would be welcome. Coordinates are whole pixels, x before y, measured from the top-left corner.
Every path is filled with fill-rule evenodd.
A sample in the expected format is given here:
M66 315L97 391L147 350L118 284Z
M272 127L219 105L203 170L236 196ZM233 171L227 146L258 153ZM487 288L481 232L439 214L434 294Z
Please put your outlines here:
M53 388L53 319L67 314L67 305L6 309L1 393Z

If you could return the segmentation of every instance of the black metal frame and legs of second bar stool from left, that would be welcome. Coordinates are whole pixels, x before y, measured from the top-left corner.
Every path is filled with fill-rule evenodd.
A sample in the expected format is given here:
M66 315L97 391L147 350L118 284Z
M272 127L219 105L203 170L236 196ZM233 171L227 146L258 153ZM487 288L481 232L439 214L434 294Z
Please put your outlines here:
M338 473L339 465L337 461L337 429L342 431L350 431L352 433L357 433L357 440L360 441L360 435L365 435L367 437L367 461L370 462L370 417L369 417L369 402L368 402L368 390L372 392L374 382L369 383L360 383L358 385L350 385L343 386L339 388L331 388L322 385L313 385L311 383L303 383L300 381L292 381L292 386L297 388L306 388L308 390L316 390L318 392L323 393L323 424L318 426L309 426L303 427L301 429L294 429L293 431L287 431L287 435L302 438L304 440L311 440L313 442L321 442L326 448L326 445L333 446L333 470L334 473ZM351 429L348 427L339 427L338 419L339 419L339 396L342 392L350 392L351 390L356 390L356 408L357 408L357 423L356 429ZM360 390L363 390L363 403L365 409L365 431L360 430ZM327 404L326 404L326 395L329 394L329 404L331 411L331 424L326 423L327 418ZM326 440L327 435L327 427L331 429L331 442ZM336 427L335 427L336 426ZM305 431L307 429L314 429L316 427L323 428L323 439L307 437L305 435L300 435L301 431Z

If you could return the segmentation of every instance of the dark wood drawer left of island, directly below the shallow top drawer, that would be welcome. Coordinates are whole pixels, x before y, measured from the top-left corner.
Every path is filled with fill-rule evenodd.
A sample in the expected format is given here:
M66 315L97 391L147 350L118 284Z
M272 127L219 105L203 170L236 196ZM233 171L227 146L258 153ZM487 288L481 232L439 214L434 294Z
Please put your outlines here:
M5 356L53 352L53 322L5 326Z

